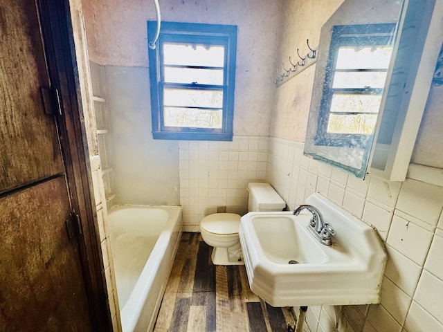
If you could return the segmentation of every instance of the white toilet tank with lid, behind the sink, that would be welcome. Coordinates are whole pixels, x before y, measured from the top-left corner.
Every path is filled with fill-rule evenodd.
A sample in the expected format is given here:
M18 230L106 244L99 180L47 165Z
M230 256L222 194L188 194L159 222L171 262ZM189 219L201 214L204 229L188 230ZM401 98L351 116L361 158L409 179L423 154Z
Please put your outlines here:
M248 184L249 212L282 211L286 203L269 183Z

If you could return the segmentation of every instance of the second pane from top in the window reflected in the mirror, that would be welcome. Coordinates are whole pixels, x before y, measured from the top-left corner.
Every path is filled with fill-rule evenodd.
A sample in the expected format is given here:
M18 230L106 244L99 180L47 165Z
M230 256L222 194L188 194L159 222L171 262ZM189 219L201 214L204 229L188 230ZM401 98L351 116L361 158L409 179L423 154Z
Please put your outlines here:
M386 82L386 72L381 71L357 71L347 73L335 73L332 88L372 88L383 89Z

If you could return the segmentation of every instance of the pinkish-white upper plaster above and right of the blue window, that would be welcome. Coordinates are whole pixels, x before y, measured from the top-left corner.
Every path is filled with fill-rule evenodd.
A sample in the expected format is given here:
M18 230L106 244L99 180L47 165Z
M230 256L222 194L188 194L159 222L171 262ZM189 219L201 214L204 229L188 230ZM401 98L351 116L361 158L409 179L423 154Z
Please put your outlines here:
M275 89L271 62L280 42L282 1L159 2L163 21L238 26L234 134L268 136ZM82 0L82 5L91 60L105 66L149 66L146 21L156 19L154 1Z

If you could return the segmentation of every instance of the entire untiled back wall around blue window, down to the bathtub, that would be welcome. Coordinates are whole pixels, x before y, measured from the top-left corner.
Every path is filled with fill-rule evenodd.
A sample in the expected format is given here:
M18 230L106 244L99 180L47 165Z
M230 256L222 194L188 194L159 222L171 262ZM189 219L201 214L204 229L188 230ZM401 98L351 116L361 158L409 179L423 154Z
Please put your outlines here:
M282 1L159 2L163 21L238 26L234 135L267 138ZM179 205L178 142L151 133L146 21L156 20L154 1L82 0L82 10L89 59L107 73L116 203Z

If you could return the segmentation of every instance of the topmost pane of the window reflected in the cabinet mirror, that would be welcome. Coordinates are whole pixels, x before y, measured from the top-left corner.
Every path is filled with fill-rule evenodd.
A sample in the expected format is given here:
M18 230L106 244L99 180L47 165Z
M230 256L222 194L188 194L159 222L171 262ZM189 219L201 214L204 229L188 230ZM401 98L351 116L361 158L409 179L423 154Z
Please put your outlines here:
M338 49L336 69L388 68L391 46L365 46L354 48L343 46Z

